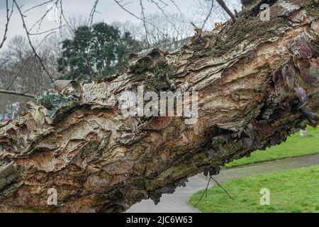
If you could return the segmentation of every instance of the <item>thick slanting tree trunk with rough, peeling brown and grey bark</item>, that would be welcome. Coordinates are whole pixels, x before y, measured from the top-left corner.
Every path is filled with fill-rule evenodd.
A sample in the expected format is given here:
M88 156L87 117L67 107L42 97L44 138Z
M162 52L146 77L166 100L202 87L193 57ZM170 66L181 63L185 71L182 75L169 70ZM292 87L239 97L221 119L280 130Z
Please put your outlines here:
M199 32L181 50L103 81L62 82L61 95L30 103L0 128L0 211L124 211L315 126L318 1L271 5L271 21L247 7L234 24ZM198 91L196 124L121 114L125 90L170 90L164 73L177 89ZM50 188L57 206L47 205Z

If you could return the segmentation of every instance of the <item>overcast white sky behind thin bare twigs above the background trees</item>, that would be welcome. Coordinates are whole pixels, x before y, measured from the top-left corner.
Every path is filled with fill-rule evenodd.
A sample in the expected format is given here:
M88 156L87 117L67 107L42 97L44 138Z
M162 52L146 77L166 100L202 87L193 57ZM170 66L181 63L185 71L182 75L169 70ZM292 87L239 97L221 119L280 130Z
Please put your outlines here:
M32 6L36 6L37 4L43 3L47 0L17 0L18 4L22 7L22 11L26 11L30 9ZM126 5L125 7L128 10L135 13L137 16L140 16L140 4L139 0L124 0L127 2L132 2L131 4ZM147 0L143 1L145 4L145 11L147 13L155 13L159 12L155 5L149 4ZM167 1L169 2L169 1ZM194 6L194 0L175 0L176 4L178 4L179 9L187 15L191 11L191 6ZM91 11L91 8L94 4L94 0L63 0L63 8L65 11L65 15L67 18L70 17L79 17L87 18ZM33 9L32 11L28 11L26 13L26 23L27 27L30 28L35 21L47 11L48 7L51 4L46 4L45 6L38 7ZM177 8L173 4L169 4L165 8L168 12L178 12ZM138 21L138 19L131 16L129 13L123 11L113 0L100 0L99 5L97 7L97 11L94 16L95 21L104 21L106 23L111 23L113 21ZM53 15L53 13L51 13ZM59 18L59 17L57 17ZM4 26L6 23L6 0L0 0L0 38L2 40ZM46 31L51 28L56 28L59 26L59 21L55 22L54 20L50 20L50 18L45 18L43 21L43 25L41 26L40 31ZM35 30L36 31L36 27ZM15 9L13 16L11 18L9 32L8 32L8 41L13 38L14 35L24 35L24 31L22 28L21 18Z

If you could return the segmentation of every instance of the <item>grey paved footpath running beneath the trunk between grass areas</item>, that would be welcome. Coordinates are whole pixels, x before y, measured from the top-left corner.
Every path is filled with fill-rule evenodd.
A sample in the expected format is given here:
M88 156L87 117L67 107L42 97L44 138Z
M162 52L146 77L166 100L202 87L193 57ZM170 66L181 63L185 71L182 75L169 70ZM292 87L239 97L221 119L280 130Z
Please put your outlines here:
M311 165L319 165L319 154L308 155L303 157L293 157L284 160L274 160L271 162L262 162L256 165L244 167L235 167L228 170L220 171L215 176L218 182L226 182L230 179L238 177L246 177L267 172L275 172L279 170L291 170L299 167L308 167ZM143 200L139 204L132 206L127 213L196 213L193 207L187 204L189 197L198 190L205 189L208 183L208 177L203 174L189 178L186 187L178 187L174 194L164 194L159 204L155 205L150 199ZM210 186L215 185L211 181Z

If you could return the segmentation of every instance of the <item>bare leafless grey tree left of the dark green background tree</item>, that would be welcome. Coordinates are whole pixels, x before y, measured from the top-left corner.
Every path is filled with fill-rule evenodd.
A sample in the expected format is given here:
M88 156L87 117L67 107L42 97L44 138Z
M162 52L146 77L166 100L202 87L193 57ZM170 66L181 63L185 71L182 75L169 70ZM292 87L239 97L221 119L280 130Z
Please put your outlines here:
M60 76L56 70L58 48L55 36L51 36L41 47L38 55L54 79ZM38 46L39 43L35 43ZM45 74L43 67L28 46L28 41L21 35L13 37L8 47L0 56L0 86L16 92L28 92L40 95L51 87L50 78ZM26 110L26 97L1 94L0 114L15 116Z

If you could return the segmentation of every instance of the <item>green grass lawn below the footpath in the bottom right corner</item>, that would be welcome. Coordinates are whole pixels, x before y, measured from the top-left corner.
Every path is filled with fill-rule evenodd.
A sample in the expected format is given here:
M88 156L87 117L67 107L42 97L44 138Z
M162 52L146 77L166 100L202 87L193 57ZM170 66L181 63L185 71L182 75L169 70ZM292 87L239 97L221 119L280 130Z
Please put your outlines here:
M315 212L319 213L319 165L225 182L231 200L218 186L208 189L207 197L196 206L203 212ZM270 191L270 205L260 205L260 190ZM193 206L203 191L189 199Z

